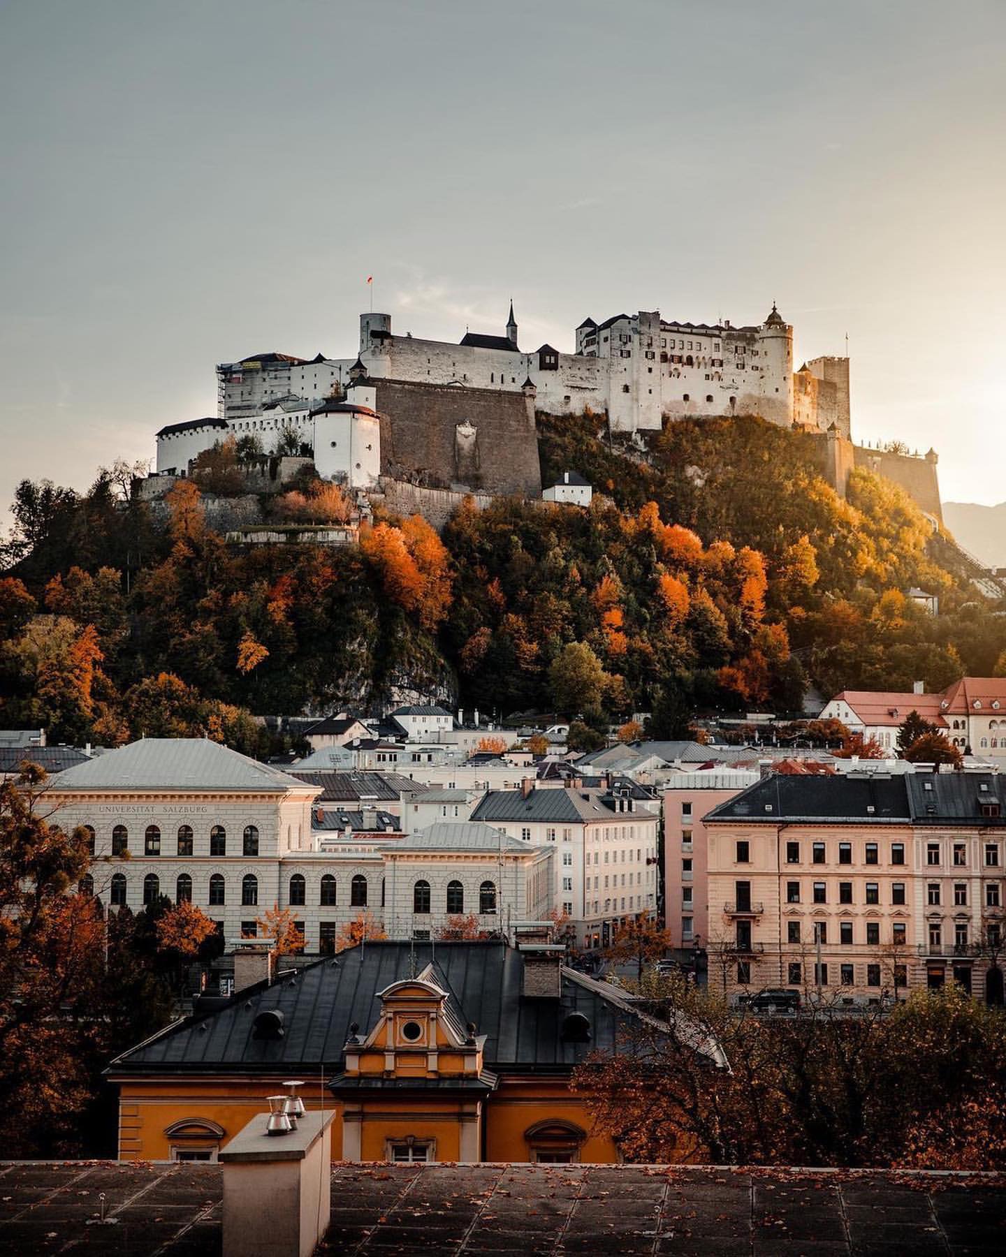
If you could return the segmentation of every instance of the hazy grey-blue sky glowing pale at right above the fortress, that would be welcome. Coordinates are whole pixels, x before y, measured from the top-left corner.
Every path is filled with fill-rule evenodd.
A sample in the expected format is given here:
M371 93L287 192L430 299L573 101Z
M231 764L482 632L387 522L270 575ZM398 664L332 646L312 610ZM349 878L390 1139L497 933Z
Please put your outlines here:
M1003 0L0 0L0 508L357 314L853 358L858 439L1006 498Z

